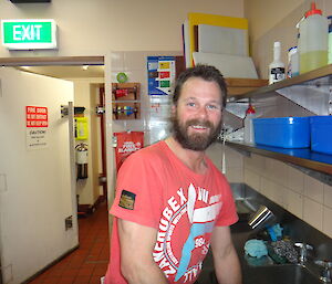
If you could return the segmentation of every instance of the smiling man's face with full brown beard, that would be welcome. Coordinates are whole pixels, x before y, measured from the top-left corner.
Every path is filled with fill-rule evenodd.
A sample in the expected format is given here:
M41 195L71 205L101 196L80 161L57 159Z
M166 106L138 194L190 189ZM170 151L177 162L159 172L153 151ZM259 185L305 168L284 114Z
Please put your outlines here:
M221 129L222 98L217 83L199 77L185 82L173 106L175 139L186 149L203 151Z

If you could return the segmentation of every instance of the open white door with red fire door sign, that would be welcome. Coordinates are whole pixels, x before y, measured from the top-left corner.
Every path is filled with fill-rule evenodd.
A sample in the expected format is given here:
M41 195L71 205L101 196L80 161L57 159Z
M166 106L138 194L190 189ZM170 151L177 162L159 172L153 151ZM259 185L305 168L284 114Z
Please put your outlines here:
M71 82L0 69L4 284L23 282L79 244L72 120L61 117L61 105L69 102L73 102ZM73 218L71 229L65 229L68 217Z

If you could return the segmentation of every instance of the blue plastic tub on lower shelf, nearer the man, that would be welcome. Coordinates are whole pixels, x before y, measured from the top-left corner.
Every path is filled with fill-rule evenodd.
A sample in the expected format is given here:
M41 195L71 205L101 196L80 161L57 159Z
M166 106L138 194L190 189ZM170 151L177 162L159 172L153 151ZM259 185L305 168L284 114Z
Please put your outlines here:
M253 119L255 143L281 148L309 148L309 117Z

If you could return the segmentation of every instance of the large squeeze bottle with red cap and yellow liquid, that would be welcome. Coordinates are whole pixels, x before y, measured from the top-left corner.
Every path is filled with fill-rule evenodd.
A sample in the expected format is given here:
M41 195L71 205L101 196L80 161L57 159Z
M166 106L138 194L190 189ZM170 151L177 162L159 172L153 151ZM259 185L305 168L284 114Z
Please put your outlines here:
M311 10L300 22L300 74L328 64L329 22L311 3Z

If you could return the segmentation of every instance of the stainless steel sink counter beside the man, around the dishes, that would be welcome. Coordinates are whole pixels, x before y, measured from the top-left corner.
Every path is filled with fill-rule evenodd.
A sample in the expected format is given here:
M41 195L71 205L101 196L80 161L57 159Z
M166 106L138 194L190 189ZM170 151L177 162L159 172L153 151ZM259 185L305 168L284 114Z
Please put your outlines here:
M247 240L256 239L259 232L250 229L247 221L259 204L266 204L277 215L277 221L283 227L284 234L292 241L310 243L315 248L315 257L331 261L332 240L302 220L295 218L278 204L268 200L246 185L231 185L236 198L239 221L231 225L234 245L237 250L241 271L242 284L322 284L319 280L320 269L312 260L303 267L298 264L267 264L256 261L248 264L243 252ZM305 238L305 239L304 239ZM258 238L259 239L259 238ZM197 284L218 284L214 271L212 253L209 252Z

